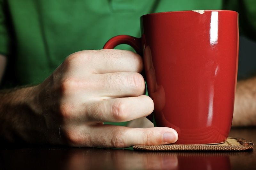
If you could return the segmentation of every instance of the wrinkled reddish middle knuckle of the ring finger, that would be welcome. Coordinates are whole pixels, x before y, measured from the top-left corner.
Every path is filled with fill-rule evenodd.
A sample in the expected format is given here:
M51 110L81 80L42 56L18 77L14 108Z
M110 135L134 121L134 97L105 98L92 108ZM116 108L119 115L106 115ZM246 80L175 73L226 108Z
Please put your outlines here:
M116 101L112 105L112 115L116 121L122 122L127 118L126 105L121 101Z

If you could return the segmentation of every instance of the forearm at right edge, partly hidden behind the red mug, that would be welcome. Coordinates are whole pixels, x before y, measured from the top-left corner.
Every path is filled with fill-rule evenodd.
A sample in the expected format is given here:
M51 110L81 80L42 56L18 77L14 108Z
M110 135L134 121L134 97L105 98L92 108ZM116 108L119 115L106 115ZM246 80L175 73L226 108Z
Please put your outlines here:
M232 126L256 125L256 77L237 82Z

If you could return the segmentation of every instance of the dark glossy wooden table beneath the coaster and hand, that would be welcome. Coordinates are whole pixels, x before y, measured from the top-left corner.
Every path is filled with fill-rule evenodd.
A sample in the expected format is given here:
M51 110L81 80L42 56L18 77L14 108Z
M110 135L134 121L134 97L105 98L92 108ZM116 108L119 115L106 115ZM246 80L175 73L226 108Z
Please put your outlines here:
M256 127L233 128L230 137L256 144ZM0 169L256 169L256 151L141 152L129 149L19 146L0 151Z

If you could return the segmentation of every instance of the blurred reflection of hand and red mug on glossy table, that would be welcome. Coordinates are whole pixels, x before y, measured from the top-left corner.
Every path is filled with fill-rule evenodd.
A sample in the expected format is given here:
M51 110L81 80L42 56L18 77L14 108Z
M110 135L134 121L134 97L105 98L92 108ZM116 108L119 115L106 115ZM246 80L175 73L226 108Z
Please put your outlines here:
M231 169L227 152L140 152L77 149L69 155L67 169Z

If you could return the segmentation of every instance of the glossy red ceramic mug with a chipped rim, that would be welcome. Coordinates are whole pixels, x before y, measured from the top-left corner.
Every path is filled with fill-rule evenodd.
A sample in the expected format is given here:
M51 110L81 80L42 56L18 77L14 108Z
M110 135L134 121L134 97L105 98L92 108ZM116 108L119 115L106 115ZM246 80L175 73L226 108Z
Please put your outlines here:
M155 126L178 132L175 144L222 143L230 131L237 78L238 13L173 11L140 17L141 38L119 44L143 53Z

